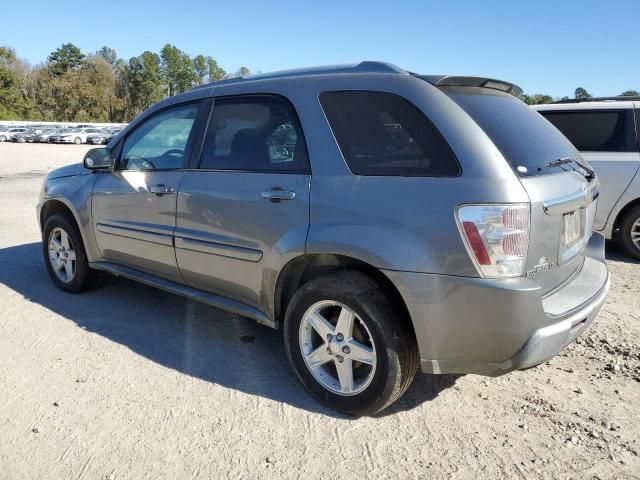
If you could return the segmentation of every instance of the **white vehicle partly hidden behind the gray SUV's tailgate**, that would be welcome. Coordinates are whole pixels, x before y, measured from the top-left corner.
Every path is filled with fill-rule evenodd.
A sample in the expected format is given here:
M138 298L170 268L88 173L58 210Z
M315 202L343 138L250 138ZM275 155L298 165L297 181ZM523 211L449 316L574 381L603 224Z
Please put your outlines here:
M535 108L598 174L594 230L640 260L640 98L562 100Z

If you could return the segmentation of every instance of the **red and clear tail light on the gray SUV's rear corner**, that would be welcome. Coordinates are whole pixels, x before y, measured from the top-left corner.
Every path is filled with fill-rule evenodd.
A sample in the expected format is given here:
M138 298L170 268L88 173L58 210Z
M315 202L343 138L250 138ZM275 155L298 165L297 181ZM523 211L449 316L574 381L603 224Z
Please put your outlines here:
M463 205L456 220L478 272L488 278L519 277L529 248L529 205Z

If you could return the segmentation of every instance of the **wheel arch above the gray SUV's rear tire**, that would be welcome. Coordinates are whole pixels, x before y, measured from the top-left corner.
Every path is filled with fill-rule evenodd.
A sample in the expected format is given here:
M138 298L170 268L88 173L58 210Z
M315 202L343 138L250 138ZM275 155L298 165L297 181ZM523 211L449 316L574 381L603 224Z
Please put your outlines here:
M274 294L274 319L282 325L287 306L296 291L306 282L337 270L362 272L373 278L399 308L411 319L409 309L398 288L382 271L360 259L333 253L300 255L290 260L280 271ZM413 330L413 325L411 325Z

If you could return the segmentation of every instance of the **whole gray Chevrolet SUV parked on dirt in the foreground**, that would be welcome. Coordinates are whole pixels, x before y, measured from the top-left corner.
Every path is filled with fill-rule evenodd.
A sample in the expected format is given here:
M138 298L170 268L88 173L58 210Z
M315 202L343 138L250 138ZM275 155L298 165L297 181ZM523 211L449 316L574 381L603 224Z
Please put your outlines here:
M418 367L537 365L609 274L598 180L520 92L363 62L168 98L49 174L46 267L67 292L109 272L280 328L302 384L353 415Z

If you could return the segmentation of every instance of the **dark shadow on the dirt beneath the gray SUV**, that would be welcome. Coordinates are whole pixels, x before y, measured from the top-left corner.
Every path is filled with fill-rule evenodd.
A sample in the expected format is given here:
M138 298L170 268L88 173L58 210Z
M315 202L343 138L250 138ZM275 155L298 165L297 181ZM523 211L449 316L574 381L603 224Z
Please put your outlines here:
M47 275L39 242L0 248L0 283L83 329L185 375L350 418L324 407L304 390L289 367L281 332L253 320L111 276L81 295L62 292ZM454 381L419 375L407 394L382 414L414 408Z

